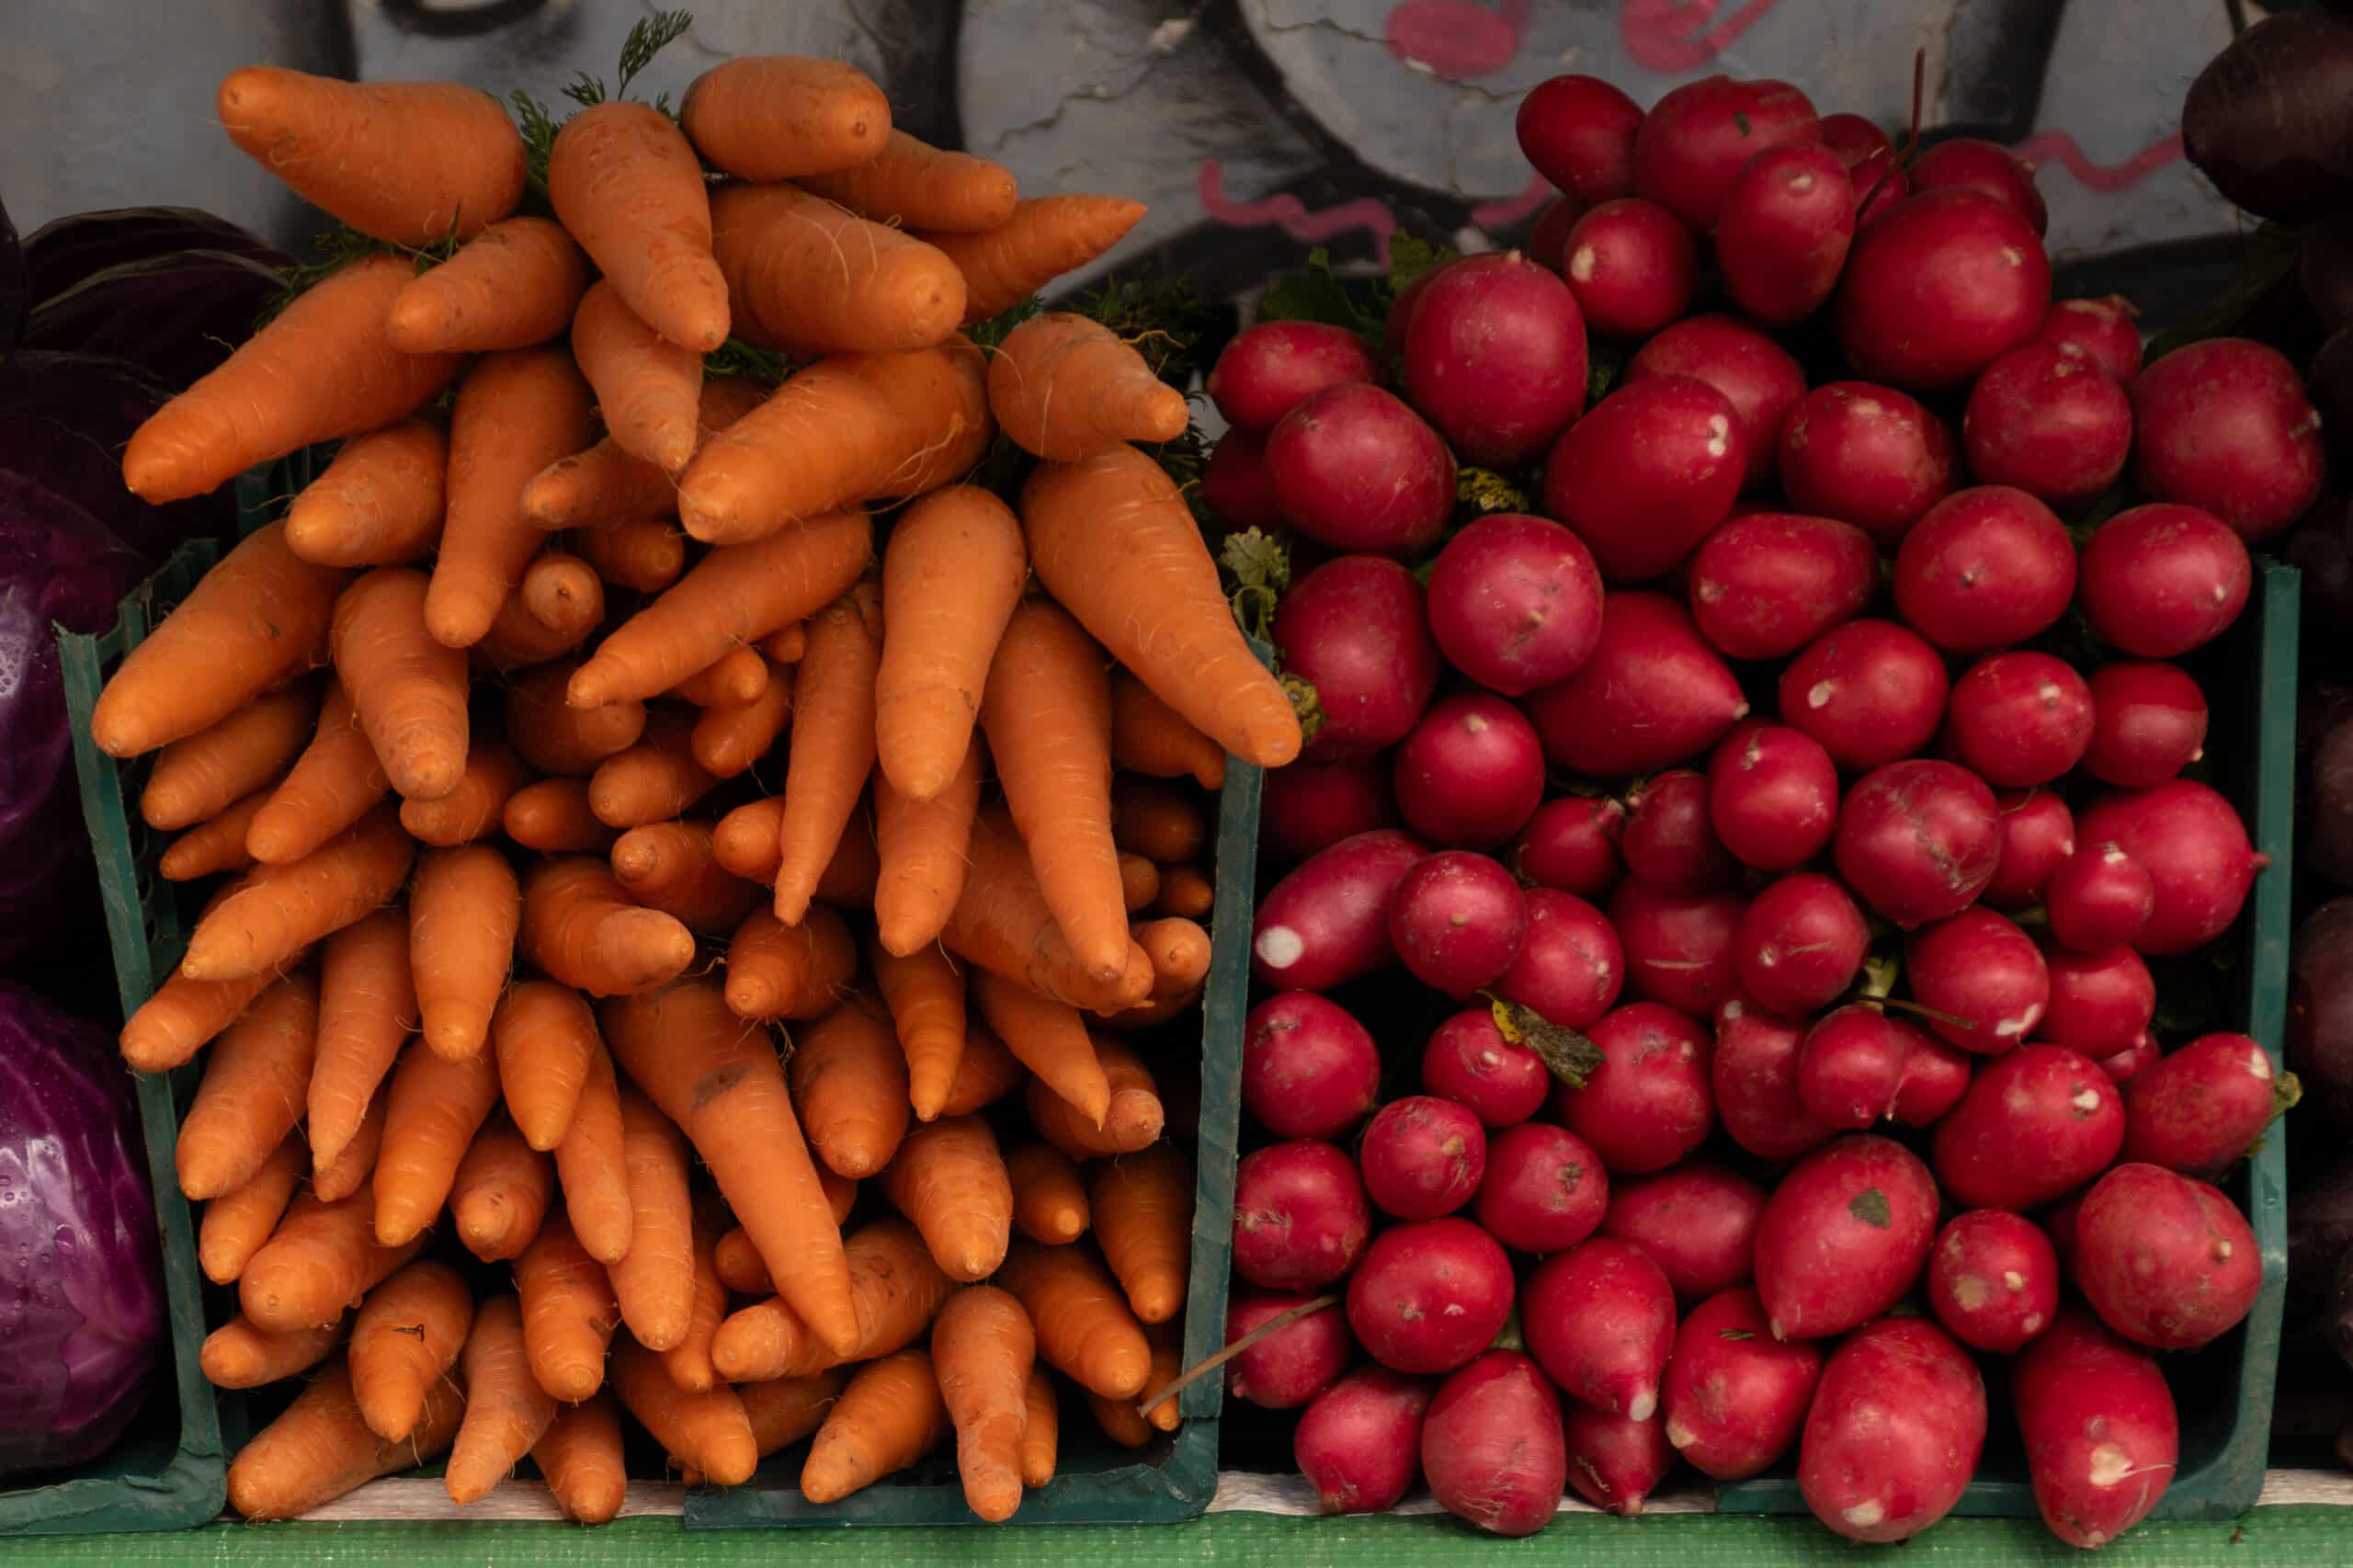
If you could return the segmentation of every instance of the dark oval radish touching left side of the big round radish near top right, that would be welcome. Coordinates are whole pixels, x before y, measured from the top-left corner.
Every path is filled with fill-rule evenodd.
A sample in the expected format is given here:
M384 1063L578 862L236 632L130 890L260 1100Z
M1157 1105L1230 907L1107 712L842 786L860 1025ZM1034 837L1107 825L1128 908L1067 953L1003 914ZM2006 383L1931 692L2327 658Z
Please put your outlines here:
M1847 162L1819 141L1758 151L1725 191L1715 217L1715 261L1725 292L1748 315L1788 327L1838 287L1854 242L1854 184Z

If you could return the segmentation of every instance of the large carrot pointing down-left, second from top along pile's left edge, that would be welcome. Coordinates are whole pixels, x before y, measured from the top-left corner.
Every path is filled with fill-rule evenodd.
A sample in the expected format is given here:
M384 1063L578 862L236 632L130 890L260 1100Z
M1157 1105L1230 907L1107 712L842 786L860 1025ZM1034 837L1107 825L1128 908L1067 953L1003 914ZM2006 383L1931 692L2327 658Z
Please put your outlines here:
M365 257L308 287L132 433L122 483L151 506L184 501L254 464L414 414L449 386L459 358L393 348L384 313L409 278L407 257ZM266 636L242 631L247 643ZM207 687L221 680L219 659L202 669Z

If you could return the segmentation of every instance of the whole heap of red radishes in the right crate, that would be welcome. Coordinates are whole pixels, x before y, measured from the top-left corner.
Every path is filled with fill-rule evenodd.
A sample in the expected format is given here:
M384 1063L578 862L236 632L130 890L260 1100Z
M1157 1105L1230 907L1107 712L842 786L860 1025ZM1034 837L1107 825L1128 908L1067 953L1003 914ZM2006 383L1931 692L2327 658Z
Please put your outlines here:
M2052 304L1993 144L1720 75L1558 78L1520 141L1529 252L1209 377L1320 709L1266 784L1228 1337L1297 1316L1231 1387L1304 1408L1327 1507L1419 1471L1497 1533L1682 1460L1904 1540L2014 1415L2104 1544L2174 1471L2165 1358L2261 1285L2212 1182L2287 1085L2158 1041L2144 956L2266 864L2177 659L2313 501L2311 405Z

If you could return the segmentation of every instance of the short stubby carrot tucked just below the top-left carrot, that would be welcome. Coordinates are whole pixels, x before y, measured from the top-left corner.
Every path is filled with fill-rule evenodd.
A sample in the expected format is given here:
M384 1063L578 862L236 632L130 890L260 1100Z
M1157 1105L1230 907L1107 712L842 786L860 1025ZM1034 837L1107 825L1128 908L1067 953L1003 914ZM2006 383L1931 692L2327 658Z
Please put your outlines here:
M529 348L565 330L588 287L588 257L562 224L513 217L393 294L384 320L402 353Z

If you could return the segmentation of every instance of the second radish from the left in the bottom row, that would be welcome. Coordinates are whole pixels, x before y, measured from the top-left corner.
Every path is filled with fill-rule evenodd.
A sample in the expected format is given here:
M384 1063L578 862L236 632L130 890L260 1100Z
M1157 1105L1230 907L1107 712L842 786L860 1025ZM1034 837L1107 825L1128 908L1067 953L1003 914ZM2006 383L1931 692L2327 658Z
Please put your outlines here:
M1421 1422L1431 1495L1489 1535L1534 1535L1567 1486L1560 1394L1520 1351L1487 1351L1447 1377Z

